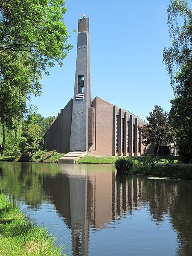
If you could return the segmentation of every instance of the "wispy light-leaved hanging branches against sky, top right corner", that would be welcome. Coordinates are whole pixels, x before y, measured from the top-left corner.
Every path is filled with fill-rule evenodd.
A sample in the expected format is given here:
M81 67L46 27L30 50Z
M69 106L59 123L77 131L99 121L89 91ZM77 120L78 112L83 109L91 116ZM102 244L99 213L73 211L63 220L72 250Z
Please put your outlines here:
M192 10L187 0L170 0L167 9L169 35L172 45L163 50L163 61L171 78L174 92L180 91L175 76L183 65L192 60Z

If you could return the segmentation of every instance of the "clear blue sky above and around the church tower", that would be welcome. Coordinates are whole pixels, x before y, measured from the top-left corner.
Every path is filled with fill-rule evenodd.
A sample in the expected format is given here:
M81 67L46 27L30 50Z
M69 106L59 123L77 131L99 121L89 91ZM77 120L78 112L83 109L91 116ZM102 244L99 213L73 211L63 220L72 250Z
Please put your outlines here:
M154 105L170 110L174 98L163 48L171 44L167 26L169 0L67 0L64 21L69 32L85 8L90 17L90 68L92 99L95 96L124 108L142 119ZM32 97L38 113L54 116L73 98L77 34L64 67L44 76L43 96Z

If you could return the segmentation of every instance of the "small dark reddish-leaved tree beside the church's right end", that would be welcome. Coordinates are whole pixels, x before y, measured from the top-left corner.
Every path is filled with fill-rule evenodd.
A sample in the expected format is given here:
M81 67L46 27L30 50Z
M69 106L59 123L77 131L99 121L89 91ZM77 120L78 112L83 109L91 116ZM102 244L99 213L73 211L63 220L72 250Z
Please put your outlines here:
M146 116L148 124L139 127L139 130L141 132L142 143L145 146L155 143L157 145L156 155L158 155L160 145L165 143L170 136L167 132L170 130L168 113L163 111L161 106L155 105L149 114L150 116Z

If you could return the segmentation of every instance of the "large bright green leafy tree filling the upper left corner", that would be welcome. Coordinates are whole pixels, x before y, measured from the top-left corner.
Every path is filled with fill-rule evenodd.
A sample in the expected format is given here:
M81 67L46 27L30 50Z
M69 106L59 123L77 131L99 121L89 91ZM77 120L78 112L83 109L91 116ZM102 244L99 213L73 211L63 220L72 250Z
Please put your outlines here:
M64 24L65 0L0 1L0 121L13 127L26 98L41 95L42 73L63 65L71 45Z

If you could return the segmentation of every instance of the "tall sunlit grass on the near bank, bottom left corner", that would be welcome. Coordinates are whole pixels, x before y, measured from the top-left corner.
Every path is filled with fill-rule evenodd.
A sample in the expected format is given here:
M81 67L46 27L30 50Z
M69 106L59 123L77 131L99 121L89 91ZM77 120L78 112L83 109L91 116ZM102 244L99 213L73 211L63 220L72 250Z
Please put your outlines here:
M25 219L20 209L0 192L0 255L4 256L61 256L54 237L45 227L38 227Z

